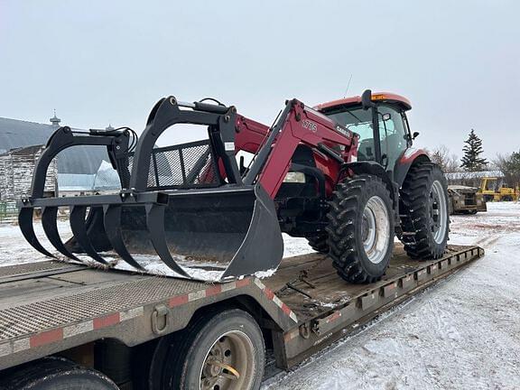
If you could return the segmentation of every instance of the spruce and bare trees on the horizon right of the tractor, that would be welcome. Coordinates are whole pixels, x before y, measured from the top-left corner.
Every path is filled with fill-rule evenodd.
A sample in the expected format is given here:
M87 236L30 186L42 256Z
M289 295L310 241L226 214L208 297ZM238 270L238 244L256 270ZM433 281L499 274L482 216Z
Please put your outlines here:
M490 162L482 157L484 148L482 140L474 129L469 132L464 141L462 158L445 146L438 146L430 152L432 161L441 166L444 172L478 172L478 171L500 171L504 173L506 181L515 185L520 182L520 150L513 153L498 153Z

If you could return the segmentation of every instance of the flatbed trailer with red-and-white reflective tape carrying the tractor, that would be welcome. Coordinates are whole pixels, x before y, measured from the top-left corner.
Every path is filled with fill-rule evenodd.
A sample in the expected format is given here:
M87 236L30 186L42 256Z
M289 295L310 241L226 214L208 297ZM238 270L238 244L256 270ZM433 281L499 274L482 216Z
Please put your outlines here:
M317 253L285 258L264 279L213 284L56 261L0 267L0 384L57 355L119 388L147 388L162 339L187 338L200 319L229 308L255 320L265 343L255 348L272 350L286 370L482 255L449 246L419 262L396 245L384 279L370 284L344 282Z

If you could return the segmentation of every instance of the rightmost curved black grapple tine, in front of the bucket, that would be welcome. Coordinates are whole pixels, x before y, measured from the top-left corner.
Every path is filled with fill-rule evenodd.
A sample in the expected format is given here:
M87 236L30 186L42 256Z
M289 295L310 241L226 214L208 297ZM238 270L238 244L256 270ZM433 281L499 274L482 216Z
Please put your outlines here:
M168 265L177 274L190 276L178 265L170 254L166 243L164 232L164 210L165 207L157 204L146 205L146 228L150 234L150 240L157 255L161 257L165 265Z

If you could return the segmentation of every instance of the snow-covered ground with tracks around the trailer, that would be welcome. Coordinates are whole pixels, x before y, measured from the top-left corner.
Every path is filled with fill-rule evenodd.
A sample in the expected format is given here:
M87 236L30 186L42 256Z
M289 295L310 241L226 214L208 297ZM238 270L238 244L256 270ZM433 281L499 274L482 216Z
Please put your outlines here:
M482 246L484 258L263 390L520 389L520 203L487 207L452 217L450 233L450 244ZM66 222L59 228L67 234ZM285 255L311 252L301 239L285 246ZM17 227L0 225L0 265L42 260Z

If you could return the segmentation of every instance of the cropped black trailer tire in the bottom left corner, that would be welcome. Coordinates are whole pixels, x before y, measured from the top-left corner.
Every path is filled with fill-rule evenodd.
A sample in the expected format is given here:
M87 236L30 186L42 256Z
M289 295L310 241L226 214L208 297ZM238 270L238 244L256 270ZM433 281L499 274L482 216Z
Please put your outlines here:
M0 382L3 390L117 390L99 371L81 367L62 357L31 362Z

